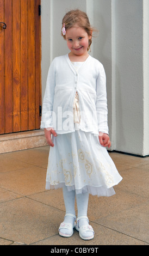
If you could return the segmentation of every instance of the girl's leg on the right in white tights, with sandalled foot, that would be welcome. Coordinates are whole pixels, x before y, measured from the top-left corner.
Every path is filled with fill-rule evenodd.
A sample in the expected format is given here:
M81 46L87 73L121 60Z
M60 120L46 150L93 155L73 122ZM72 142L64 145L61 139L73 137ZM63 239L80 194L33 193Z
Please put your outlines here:
M78 208L78 218L77 218L78 228L82 226L89 227L89 220L87 217L89 193L86 192L82 194L76 194L76 200L77 200L77 208ZM80 237L86 240L89 240L90 237L92 239L94 237L94 230L92 229L92 231L90 231L89 229L87 231L83 231Z

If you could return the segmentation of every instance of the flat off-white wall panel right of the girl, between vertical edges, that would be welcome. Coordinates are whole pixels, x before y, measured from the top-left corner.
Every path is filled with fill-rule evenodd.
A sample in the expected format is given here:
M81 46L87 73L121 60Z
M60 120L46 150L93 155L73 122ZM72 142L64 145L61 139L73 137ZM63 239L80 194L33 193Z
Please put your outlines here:
M116 149L144 144L143 2L116 0Z

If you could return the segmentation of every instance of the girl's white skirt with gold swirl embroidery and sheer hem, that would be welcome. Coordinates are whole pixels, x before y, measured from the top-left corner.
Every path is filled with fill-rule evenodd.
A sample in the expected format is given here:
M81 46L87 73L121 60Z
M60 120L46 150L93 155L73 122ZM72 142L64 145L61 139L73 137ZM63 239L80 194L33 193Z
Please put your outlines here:
M76 193L89 192L97 196L113 196L113 186L122 177L117 171L107 149L102 147L98 136L90 132L75 132L52 137L46 189L67 186Z

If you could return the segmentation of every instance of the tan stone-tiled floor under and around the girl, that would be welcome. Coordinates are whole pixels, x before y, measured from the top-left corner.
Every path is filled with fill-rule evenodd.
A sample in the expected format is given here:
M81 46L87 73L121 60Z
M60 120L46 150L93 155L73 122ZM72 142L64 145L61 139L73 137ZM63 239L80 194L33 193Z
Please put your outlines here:
M48 147L0 155L0 245L149 245L149 157L110 153L123 180L113 197L89 198L90 241L60 237L60 190L45 190ZM77 211L77 208L76 208Z

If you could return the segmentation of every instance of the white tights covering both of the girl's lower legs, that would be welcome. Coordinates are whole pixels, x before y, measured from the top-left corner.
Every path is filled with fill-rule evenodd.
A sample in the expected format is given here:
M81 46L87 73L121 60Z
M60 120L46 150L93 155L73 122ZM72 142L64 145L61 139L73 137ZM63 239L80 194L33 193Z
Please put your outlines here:
M78 209L78 216L87 216L88 212L88 201L89 201L89 193L82 193L82 194L76 194L75 191L68 191L67 187L63 187L63 196L64 196L64 203L65 203L65 209L66 209L66 214L73 214L75 215L75 210L74 210L74 202L75 202L75 197L77 201L77 209ZM72 225L74 224L74 218L71 216L66 216L64 219L64 223L71 223ZM86 219L82 219L79 221L79 225L88 225L88 221ZM62 233L69 234L69 230L67 229L61 229L60 230Z

